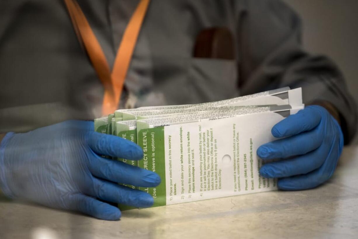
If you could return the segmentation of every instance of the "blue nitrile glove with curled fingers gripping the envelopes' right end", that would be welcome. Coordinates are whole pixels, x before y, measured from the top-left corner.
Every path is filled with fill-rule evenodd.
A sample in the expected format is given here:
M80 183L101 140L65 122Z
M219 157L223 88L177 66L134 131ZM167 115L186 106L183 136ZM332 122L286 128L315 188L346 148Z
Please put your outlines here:
M261 145L257 155L264 162L281 159L260 169L263 177L279 178L279 189L317 187L333 175L343 149L343 134L326 109L307 106L277 123L271 132L282 139Z

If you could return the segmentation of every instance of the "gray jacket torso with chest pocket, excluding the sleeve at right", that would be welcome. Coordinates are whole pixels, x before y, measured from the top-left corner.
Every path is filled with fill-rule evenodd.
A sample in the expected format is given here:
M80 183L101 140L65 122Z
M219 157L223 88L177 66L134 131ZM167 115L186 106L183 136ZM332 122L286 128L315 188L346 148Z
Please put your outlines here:
M78 0L110 66L138 2ZM103 86L63 1L14 0L0 6L0 131L100 116ZM129 92L135 107L238 96L235 46L235 59L193 54L204 29L225 27L236 38L234 12L229 0L152 0L118 107Z

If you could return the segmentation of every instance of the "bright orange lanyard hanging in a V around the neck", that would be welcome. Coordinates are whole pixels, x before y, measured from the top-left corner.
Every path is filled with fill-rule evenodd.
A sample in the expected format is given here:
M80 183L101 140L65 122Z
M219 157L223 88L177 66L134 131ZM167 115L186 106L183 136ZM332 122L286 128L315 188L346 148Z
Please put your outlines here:
M64 1L71 16L77 37L86 49L89 59L103 84L105 92L102 103L102 114L111 114L118 107L124 81L150 0L141 0L132 15L122 37L112 72L101 45L98 43L77 1Z

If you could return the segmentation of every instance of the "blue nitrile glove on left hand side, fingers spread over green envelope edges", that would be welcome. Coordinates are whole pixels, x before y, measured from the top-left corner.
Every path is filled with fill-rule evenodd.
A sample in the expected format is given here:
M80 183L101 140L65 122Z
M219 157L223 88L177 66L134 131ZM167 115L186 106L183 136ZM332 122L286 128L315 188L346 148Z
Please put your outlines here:
M151 171L100 157L138 160L135 143L93 131L93 122L66 121L29 133L8 133L0 145L0 188L9 197L117 220L120 210L98 201L149 207L146 192L118 185L154 187L160 177Z

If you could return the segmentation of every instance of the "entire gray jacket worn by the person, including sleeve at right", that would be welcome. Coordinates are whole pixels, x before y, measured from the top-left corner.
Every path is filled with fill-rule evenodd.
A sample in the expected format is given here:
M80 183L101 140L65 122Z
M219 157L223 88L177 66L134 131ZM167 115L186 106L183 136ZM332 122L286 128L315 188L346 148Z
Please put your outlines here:
M138 0L78 0L110 65ZM193 55L200 32L225 27L234 59ZM0 132L100 116L103 86L62 0L0 2ZM341 72L301 46L299 17L279 0L152 0L125 83L136 106L193 104L278 87L331 102L345 142L357 112ZM122 107L120 105L118 107Z

